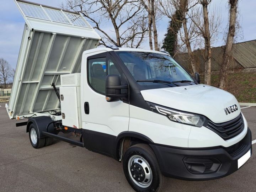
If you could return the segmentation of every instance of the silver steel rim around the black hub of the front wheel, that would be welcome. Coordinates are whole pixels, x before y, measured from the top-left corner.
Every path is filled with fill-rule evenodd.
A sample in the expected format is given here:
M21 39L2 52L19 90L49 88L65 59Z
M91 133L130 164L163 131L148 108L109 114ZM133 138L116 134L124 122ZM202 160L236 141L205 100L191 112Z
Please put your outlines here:
M145 178L143 179L143 181L139 182L139 181L136 181L134 179L134 175L131 172L132 165L134 163L138 163L143 168L143 171L145 173ZM149 166L148 161L146 161L142 156L133 155L133 156L130 157L130 159L128 161L128 171L129 171L130 178L132 178L133 182L137 186L142 187L142 188L147 188L151 185L151 183L152 183L152 171L151 171L151 168Z

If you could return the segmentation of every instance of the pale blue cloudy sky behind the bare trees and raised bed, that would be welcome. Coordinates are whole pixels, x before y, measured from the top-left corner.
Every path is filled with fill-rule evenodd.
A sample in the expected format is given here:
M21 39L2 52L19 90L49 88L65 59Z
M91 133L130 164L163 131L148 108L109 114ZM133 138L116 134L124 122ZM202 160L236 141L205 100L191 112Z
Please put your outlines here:
M30 0L43 5L58 7L64 0ZM228 25L228 0L212 0L211 9L219 10L222 23L219 28L218 37L213 47L225 44L223 34ZM256 39L256 1L240 0L239 20L242 27L243 38L239 37L237 42ZM211 10L210 10L211 11ZM162 41L168 27L168 18L162 18L158 23L158 39ZM17 9L13 0L0 0L0 58L6 59L12 68L16 68L18 53L25 21ZM105 30L110 30L106 28ZM111 31L110 31L111 33ZM241 33L240 33L241 34ZM149 49L148 41L144 42L142 48Z

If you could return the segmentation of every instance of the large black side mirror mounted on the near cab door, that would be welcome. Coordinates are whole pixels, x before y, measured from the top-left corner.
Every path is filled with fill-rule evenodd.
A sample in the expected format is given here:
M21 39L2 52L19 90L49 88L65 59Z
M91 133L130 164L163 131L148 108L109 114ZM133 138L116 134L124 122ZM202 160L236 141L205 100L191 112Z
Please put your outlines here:
M128 94L123 94L122 89L128 90L128 85L121 85L119 75L108 75L106 77L106 101L118 101L120 98L127 97Z

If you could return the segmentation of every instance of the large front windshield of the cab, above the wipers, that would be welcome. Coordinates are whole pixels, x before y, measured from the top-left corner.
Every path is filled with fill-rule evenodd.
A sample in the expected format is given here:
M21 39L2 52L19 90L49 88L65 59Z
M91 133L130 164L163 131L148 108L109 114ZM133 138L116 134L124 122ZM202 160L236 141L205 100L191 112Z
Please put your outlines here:
M117 51L116 53L133 75L133 78L141 85L150 83L139 82L143 80L162 80L170 82L184 80L194 81L191 76L169 55L124 51Z

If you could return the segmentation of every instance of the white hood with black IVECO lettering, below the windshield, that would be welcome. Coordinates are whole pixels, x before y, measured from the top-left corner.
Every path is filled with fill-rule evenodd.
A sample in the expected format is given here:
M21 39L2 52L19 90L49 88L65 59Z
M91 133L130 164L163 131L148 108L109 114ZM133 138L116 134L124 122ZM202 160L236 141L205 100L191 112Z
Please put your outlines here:
M149 89L141 91L141 94L145 101L202 114L214 123L230 121L241 112L238 101L232 94L203 84Z

